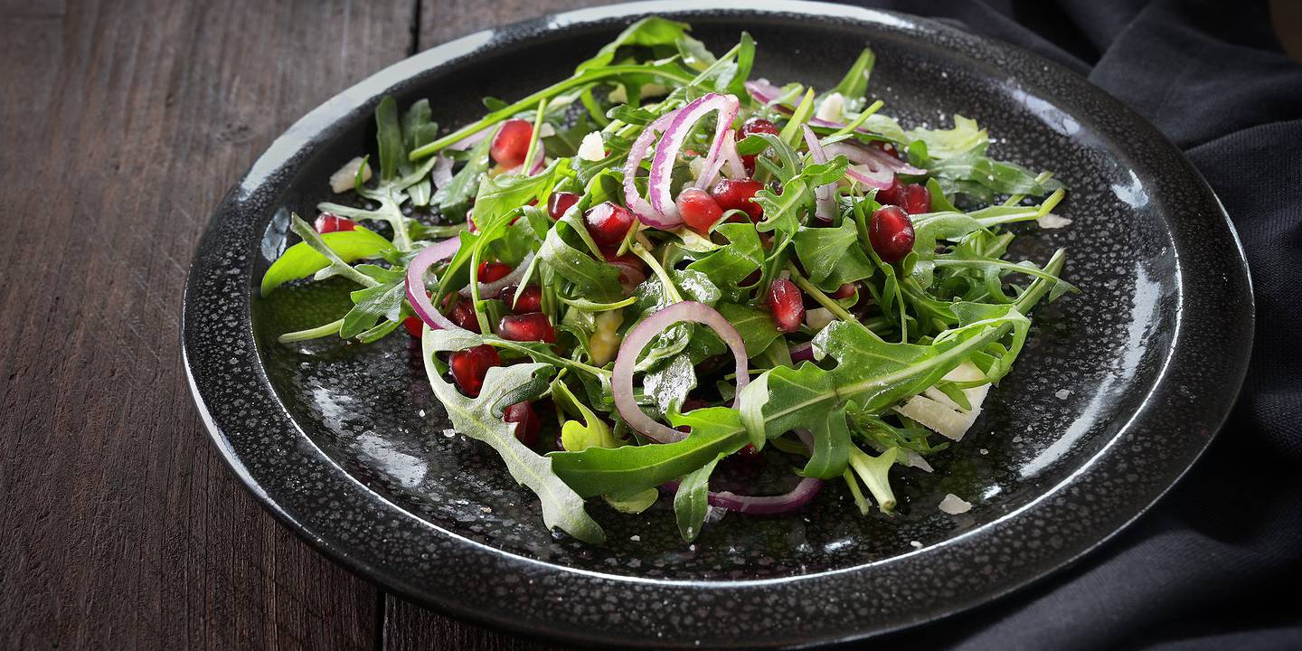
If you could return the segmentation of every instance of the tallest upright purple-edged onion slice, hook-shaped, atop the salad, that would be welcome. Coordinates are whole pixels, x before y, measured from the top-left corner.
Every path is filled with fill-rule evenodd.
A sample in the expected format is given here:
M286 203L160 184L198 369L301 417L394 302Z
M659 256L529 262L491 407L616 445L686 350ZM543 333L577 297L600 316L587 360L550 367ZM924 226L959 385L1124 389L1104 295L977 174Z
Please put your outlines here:
M678 206L673 203L673 195L669 189L673 164L678 160L678 150L682 148L684 141L687 139L691 129L700 118L717 112L719 121L715 125L715 138L710 145L710 154L706 156L704 165L706 169L712 168L724 146L724 137L732 128L732 121L737 117L740 108L741 103L732 95L707 92L671 113L674 116L673 121L669 122L664 135L660 137L660 143L656 145L655 156L651 159L651 176L647 178L647 199L651 201L651 210L656 216L663 219L655 220L659 223L648 221L648 225L655 228L674 228L682 224L682 217L678 215Z

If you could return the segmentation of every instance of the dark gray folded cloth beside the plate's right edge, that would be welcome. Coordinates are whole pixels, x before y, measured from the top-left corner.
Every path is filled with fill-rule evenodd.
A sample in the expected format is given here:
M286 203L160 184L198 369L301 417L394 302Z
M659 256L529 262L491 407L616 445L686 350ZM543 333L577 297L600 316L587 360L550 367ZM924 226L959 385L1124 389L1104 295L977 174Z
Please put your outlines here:
M1229 423L1075 566L880 648L1302 648L1302 65L1245 0L862 1L1053 59L1185 150L1238 229L1256 337ZM1215 379L1210 379L1215 381Z

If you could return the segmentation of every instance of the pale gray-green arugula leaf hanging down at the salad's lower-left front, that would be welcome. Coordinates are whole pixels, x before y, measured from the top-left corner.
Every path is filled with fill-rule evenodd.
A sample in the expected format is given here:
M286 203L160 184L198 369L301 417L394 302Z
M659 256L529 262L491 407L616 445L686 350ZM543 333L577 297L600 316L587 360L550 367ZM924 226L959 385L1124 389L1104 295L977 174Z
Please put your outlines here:
M516 439L514 423L501 419L503 409L523 400L536 398L547 389L551 366L521 363L492 367L484 376L479 397L461 395L443 379L435 366L435 353L461 350L479 344L479 337L450 331L424 332L422 353L424 371L435 397L443 402L452 426L465 436L487 443L506 464L506 470L517 482L538 495L543 508L543 523L557 527L579 540L600 543L605 540L587 512L583 499L557 477L553 458L542 457Z

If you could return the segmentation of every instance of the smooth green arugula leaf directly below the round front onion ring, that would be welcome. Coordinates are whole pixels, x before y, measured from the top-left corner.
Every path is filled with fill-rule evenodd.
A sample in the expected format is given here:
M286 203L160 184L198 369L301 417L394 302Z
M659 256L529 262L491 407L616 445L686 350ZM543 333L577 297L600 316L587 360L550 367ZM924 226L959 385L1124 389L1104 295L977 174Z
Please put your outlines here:
M548 453L552 470L581 496L618 497L677 479L750 443L734 409L697 409L687 414L671 414L669 422L691 427L691 435L677 443L658 445L552 452Z

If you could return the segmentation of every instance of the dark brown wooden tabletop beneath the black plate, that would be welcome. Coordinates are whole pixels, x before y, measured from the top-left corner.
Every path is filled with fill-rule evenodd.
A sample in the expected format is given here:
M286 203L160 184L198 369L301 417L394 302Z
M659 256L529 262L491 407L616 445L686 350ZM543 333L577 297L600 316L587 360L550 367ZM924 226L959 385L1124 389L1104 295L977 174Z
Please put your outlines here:
M208 211L297 117L582 4L0 0L0 648L548 648L264 513L191 405L177 314Z

